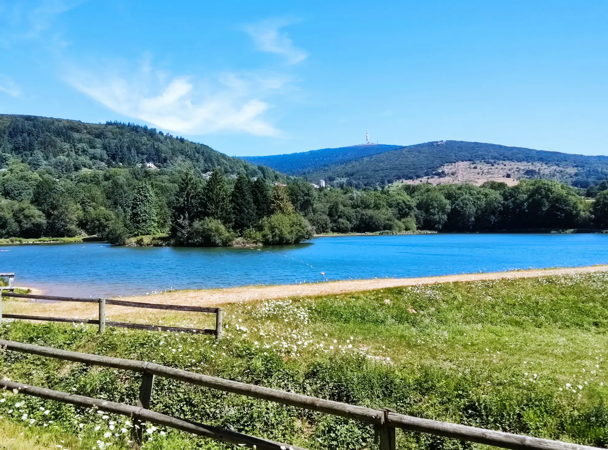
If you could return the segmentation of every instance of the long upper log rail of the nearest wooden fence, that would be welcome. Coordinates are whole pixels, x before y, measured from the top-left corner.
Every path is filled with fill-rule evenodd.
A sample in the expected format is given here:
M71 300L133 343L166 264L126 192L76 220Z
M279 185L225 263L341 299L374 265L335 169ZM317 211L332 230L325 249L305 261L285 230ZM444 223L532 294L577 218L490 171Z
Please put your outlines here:
M198 384L199 386L222 390L224 392L232 392L233 394L246 395L247 397L260 398L262 400L274 401L275 403L286 404L302 409L309 409L312 411L324 412L326 414L333 414L340 417L364 421L366 423L375 425L376 429L378 429L381 450L395 449L395 428L401 428L407 431L429 433L437 436L471 441L513 450L597 450L595 447L585 445L413 417L410 415L398 414L390 411L389 409L377 410L363 406L340 403L339 401L323 400L322 398L309 397L308 395L294 394L292 392L271 389L269 387L240 383L239 381L225 380L224 378L210 377L209 375L188 372L187 370L173 369L172 367L161 366L160 364L145 361L92 355L91 353L71 352L69 350L34 346L32 344L6 341L4 339L0 339L0 347L16 352L48 356L75 363L143 372L145 374L184 381L185 383ZM150 399L147 398L148 404L149 400Z

